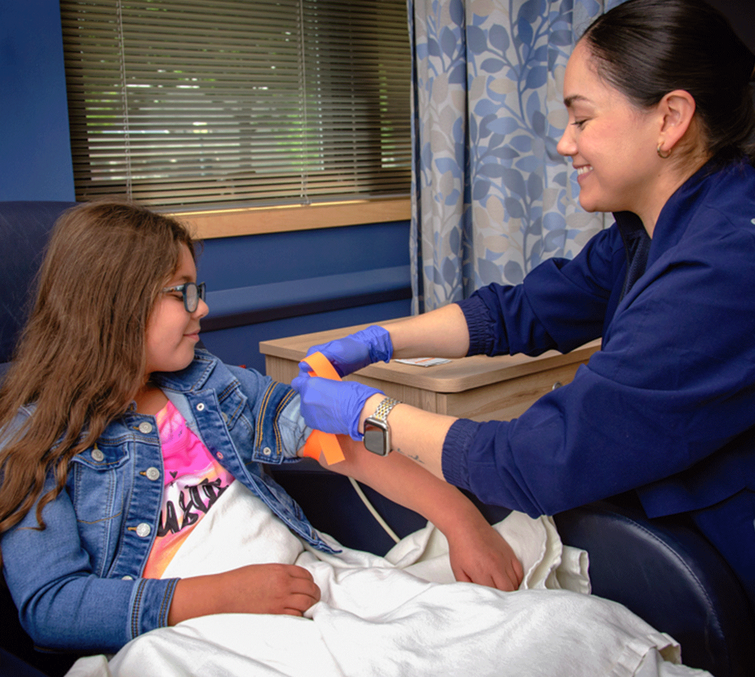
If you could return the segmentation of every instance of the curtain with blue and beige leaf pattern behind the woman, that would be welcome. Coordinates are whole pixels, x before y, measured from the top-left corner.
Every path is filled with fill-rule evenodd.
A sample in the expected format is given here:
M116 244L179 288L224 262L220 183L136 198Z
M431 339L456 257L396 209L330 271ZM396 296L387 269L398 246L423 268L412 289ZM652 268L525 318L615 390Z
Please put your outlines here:
M576 39L621 0L408 0L412 312L518 284L612 223L556 152Z

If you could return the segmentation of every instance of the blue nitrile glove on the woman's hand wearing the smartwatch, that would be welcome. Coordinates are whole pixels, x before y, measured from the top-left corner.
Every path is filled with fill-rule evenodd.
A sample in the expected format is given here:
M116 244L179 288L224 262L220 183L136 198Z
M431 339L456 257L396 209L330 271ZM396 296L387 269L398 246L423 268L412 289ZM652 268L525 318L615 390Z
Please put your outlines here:
M357 442L362 440L359 432L359 415L365 402L381 390L356 381L334 381L310 376L305 371L291 381L301 397L301 415L310 428L322 432L349 435Z

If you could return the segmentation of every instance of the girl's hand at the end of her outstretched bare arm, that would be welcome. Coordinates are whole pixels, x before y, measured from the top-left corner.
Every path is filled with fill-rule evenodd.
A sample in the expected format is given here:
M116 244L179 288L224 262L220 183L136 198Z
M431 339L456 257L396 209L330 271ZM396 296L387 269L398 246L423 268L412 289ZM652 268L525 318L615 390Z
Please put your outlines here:
M504 537L484 519L448 538L448 555L456 580L511 592L524 576L522 564Z

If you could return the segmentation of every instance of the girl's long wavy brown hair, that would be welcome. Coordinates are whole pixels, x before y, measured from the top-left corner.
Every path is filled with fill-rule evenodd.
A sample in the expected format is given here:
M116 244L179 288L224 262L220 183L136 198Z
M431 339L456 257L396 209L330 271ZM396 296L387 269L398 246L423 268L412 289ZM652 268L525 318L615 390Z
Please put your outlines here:
M125 202L66 211L53 229L29 321L0 389L0 534L66 485L69 462L123 414L146 368L147 319L177 269L185 226ZM8 425L23 405L32 414ZM39 499L52 473L54 488Z

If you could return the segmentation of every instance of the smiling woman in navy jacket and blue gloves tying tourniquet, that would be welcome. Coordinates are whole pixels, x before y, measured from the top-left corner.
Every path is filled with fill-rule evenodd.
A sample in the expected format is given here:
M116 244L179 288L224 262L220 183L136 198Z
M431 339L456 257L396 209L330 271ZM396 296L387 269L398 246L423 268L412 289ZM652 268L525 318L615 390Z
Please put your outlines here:
M394 453L532 516L634 489L651 518L688 513L755 608L753 65L703 0L628 0L599 17L566 67L558 149L581 205L616 223L521 285L313 346L348 374L602 337L572 383L519 419L476 423L304 368L307 423L361 439L370 417L376 451L390 429Z

